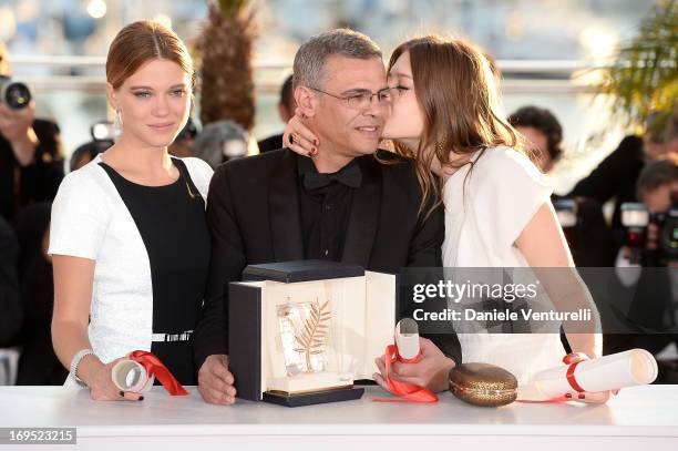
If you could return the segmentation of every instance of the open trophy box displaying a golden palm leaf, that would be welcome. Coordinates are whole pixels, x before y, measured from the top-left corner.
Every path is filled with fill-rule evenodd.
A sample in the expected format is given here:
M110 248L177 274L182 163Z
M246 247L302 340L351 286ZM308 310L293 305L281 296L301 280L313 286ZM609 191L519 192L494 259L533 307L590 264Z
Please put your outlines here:
M359 399L393 341L397 276L325 260L247 266L229 284L238 398L287 407Z

